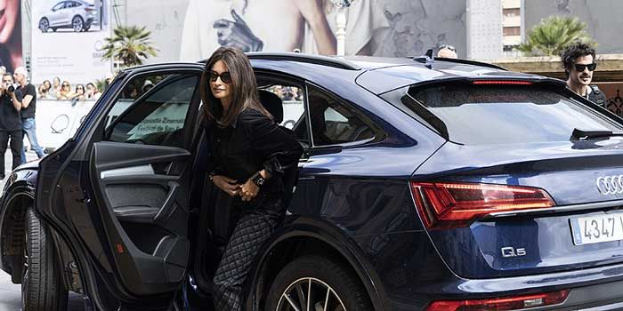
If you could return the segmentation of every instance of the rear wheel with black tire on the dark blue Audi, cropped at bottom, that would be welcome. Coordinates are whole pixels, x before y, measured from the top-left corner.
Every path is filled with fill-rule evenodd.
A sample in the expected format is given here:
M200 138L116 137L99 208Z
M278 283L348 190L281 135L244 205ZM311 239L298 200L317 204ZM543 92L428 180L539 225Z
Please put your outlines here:
M305 297L312 284L312 301ZM328 291L328 290L331 291ZM327 292L333 292L325 306ZM342 265L320 256L304 256L288 263L279 271L268 292L264 311L294 309L285 294L301 311L372 311L368 293L360 280ZM303 298L301 299L301 293ZM303 301L302 301L303 300ZM340 303L341 301L341 303Z

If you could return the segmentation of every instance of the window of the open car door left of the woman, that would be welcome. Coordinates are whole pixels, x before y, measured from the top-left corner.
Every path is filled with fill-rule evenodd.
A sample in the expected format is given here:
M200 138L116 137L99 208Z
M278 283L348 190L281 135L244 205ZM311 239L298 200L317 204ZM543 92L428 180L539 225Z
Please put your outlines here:
M109 112L106 140L182 147L197 84L198 76L191 74L135 77Z

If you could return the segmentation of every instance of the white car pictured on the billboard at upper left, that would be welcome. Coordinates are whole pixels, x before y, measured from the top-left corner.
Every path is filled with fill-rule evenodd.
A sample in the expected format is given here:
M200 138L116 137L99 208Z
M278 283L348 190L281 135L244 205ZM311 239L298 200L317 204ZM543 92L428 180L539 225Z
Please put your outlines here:
M97 20L98 10L94 4L83 0L68 0L54 4L39 20L39 29L48 32L58 28L72 28L75 32L88 31Z

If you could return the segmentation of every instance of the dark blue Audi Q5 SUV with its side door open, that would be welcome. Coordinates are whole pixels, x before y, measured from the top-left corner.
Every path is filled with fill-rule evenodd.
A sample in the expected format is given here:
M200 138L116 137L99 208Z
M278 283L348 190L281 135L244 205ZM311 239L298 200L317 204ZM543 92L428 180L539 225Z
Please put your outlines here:
M305 152L247 310L623 308L623 120L467 60L248 54ZM122 72L12 172L2 268L25 310L209 310L238 211L206 180L198 63ZM153 87L145 88L145 85Z

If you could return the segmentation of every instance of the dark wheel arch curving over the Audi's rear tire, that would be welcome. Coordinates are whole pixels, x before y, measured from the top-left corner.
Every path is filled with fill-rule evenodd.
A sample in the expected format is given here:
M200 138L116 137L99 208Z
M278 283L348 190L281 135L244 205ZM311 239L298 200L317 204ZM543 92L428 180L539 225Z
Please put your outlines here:
M279 270L305 255L320 255L336 260L357 276L375 310L386 309L380 279L363 259L359 246L341 229L316 219L297 219L280 227L256 258L252 282L248 284L247 307L262 309L264 293Z

